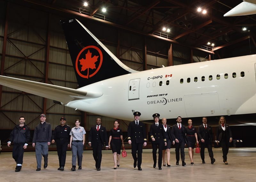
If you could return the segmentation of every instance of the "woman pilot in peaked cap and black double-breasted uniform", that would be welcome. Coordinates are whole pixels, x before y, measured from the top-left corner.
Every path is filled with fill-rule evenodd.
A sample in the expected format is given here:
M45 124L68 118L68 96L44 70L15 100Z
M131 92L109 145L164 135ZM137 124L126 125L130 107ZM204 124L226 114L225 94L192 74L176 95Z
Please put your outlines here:
M152 115L154 118L155 123L151 124L150 130L149 130L149 135L151 138L151 143L152 143L152 154L153 154L153 160L154 160L154 165L153 168L156 167L156 150L158 146L158 169L162 170L162 157L163 157L163 147L164 145L166 146L166 138L164 134L164 126L161 123L159 125L159 114L153 114Z

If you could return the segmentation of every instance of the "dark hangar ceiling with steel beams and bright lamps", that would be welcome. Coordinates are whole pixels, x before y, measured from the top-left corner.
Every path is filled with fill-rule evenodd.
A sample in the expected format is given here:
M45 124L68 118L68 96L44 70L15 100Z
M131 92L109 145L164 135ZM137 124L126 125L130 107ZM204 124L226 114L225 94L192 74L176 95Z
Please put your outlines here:
M22 1L20 1L22 2ZM223 17L242 0L24 0L47 10L68 12L140 34L219 54L230 45L247 41L255 50L256 15ZM102 12L102 8L106 12ZM198 12L197 8L202 11ZM242 28L246 30L242 30ZM170 32L163 28L170 29ZM207 45L213 43L214 46Z

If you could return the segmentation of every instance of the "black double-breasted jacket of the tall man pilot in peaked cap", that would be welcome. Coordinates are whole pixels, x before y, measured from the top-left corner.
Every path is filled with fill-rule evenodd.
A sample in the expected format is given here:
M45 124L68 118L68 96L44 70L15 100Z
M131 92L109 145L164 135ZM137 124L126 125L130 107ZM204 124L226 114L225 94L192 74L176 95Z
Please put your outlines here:
M138 126L135 121L129 123L127 129L128 140L131 140L132 143L143 143L147 142L147 133L145 124L139 121Z

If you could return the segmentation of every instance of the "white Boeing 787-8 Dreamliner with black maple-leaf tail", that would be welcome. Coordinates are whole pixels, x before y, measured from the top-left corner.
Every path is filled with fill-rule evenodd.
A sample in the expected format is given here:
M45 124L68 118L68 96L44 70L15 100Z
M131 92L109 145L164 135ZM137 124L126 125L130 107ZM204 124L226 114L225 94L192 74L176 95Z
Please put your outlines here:
M153 122L152 115L159 113L173 121L177 116L194 118L199 124L202 116L212 125L218 125L220 116L226 116L230 125L255 124L256 54L136 71L125 66L80 21L61 24L78 89L7 76L0 76L0 84L123 120L132 120L133 112L139 111L141 120L147 122Z

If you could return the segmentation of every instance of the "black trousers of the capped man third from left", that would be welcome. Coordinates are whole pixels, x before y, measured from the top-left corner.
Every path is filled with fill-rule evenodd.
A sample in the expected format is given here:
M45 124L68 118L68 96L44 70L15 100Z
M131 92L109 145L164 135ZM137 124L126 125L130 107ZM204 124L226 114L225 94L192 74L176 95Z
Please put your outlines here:
M57 148L57 153L59 156L60 167L65 166L67 147L68 147L68 139L65 139L65 140L56 139L56 148Z

